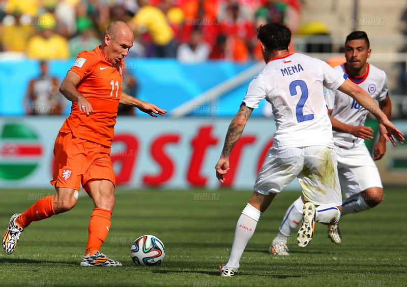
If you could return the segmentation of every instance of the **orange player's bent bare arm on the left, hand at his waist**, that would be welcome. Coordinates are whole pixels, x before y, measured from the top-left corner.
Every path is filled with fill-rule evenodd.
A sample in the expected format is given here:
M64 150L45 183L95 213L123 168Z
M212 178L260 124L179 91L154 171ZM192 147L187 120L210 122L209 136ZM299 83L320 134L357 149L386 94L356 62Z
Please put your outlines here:
M68 101L78 102L79 110L81 112L86 112L86 115L90 115L93 112L92 104L86 100L83 95L78 92L76 85L80 82L80 77L78 74L72 71L68 71L64 80L61 83L60 92L67 98Z

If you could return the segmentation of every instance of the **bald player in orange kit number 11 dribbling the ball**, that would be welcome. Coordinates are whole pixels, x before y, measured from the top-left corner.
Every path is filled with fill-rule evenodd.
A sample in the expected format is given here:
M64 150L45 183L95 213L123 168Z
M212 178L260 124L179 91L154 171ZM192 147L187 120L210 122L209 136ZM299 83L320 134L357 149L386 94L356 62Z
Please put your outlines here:
M115 177L110 146L120 104L137 107L153 117L164 115L156 105L122 92L123 58L133 45L133 32L122 21L105 30L103 44L78 54L60 91L72 102L71 114L55 140L55 166L51 184L56 194L14 214L3 236L3 249L11 254L24 228L33 221L72 209L80 184L95 204L89 223L88 244L81 266L121 266L101 253L114 207Z

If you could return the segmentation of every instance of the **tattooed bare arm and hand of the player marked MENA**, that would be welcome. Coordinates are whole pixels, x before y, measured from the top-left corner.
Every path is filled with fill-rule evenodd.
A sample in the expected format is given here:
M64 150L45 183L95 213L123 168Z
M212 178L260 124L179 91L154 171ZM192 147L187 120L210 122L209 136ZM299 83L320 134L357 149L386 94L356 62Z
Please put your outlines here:
M225 142L223 144L223 150L220 155L219 161L215 166L216 177L220 182L224 182L224 174L229 170L229 156L230 153L243 134L247 120L249 119L253 109L248 108L245 105L241 105L239 111L229 124L229 128L226 133Z

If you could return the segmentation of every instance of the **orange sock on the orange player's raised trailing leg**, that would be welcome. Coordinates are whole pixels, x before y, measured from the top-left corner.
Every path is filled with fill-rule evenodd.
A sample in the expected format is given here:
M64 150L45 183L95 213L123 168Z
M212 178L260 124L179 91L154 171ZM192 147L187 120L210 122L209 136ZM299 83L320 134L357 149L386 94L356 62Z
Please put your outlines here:
M54 211L54 197L43 197L24 211L16 220L21 228L26 228L33 221L39 221L56 214Z

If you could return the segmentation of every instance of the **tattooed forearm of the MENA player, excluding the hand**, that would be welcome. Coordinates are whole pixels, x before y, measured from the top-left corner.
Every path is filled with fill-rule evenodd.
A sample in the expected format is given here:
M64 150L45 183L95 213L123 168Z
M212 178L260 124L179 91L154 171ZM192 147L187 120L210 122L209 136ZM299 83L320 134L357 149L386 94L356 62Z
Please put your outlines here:
M222 156L229 156L232 148L238 142L243 134L247 120L249 119L252 108L242 105L235 117L229 124L229 129L226 133L225 143L223 145Z

